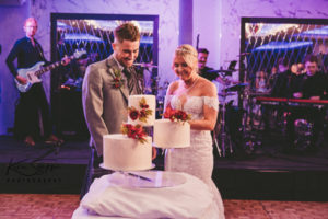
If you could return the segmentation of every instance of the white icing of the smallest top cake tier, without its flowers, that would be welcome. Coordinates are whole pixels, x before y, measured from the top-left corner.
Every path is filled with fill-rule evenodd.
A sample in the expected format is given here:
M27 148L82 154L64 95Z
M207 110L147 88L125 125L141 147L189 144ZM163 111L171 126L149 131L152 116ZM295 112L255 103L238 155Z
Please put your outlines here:
M130 95L129 96L129 107L134 107L139 112L142 110L140 106L141 100L145 100L145 104L149 105L147 110L151 110L152 114L148 115L145 122L140 120L140 117L136 120L131 119L130 115L128 116L128 124L131 125L141 125L141 126L153 126L155 122L156 114L156 97L154 95Z

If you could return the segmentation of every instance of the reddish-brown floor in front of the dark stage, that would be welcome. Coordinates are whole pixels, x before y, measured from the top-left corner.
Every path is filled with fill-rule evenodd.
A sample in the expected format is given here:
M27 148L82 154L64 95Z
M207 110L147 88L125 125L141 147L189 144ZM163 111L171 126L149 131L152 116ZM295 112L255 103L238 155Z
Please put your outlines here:
M0 194L0 219L68 219L79 195ZM325 219L328 203L225 199L226 219Z

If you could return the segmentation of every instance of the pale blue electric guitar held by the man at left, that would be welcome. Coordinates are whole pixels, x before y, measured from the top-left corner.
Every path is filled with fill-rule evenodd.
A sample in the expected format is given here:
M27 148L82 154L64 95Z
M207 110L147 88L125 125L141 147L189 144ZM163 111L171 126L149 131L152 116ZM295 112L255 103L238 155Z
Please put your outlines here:
M69 56L69 59L77 59L80 58L82 55L86 54L85 50L75 50L74 54L72 56ZM62 60L61 61L57 61L54 64L50 64L49 66L45 66L44 61L39 61L37 64L35 64L33 67L31 68L26 68L26 69L17 69L17 74L25 78L27 80L27 83L22 84L20 83L16 79L15 83L16 83L16 88L19 89L20 92L27 92L31 87L34 83L38 83L42 82L40 76L49 70L52 70L59 66L62 65Z

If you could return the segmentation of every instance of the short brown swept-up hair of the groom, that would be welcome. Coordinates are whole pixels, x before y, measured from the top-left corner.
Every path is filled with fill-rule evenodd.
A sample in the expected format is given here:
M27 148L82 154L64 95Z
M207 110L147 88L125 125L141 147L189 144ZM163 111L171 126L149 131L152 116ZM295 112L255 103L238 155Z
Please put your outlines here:
M127 22L115 28L114 37L119 43L122 43L124 39L136 42L140 41L140 32L138 26L136 26L131 22Z

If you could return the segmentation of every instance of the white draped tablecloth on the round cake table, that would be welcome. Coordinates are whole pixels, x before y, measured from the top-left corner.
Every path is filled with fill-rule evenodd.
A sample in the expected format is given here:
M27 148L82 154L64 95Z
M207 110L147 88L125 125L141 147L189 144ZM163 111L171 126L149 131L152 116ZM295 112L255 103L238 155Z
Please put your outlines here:
M118 172L96 178L72 218L218 218L213 195L199 178L163 171L133 173L152 182Z

